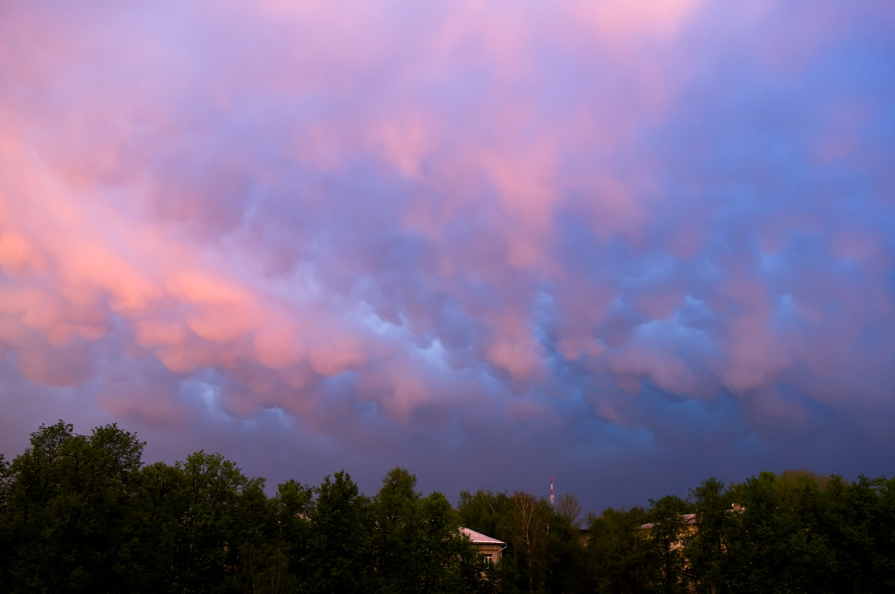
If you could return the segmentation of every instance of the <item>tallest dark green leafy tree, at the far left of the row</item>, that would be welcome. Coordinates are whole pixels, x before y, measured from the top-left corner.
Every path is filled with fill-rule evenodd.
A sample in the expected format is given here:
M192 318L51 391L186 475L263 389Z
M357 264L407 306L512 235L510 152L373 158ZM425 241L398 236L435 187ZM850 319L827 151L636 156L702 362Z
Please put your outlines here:
M31 434L9 468L5 523L12 590L126 590L143 443L115 425L76 435L59 421Z

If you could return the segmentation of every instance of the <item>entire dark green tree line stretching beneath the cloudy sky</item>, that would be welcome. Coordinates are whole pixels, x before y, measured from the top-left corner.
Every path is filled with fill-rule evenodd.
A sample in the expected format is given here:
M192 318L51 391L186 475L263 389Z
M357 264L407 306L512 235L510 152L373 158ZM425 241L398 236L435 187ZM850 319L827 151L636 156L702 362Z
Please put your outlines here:
M364 496L345 471L268 496L220 454L142 462L107 425L41 426L0 454L3 592L890 592L895 479L787 471L707 479L684 499L554 509L462 492L456 509L388 471ZM465 526L503 540L499 563Z

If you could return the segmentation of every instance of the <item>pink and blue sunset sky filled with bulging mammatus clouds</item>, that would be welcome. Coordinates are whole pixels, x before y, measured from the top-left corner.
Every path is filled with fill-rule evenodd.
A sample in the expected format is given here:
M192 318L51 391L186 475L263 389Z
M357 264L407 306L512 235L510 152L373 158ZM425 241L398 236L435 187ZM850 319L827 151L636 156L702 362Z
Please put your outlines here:
M895 9L0 4L0 452L584 509L893 473Z

